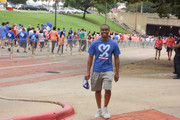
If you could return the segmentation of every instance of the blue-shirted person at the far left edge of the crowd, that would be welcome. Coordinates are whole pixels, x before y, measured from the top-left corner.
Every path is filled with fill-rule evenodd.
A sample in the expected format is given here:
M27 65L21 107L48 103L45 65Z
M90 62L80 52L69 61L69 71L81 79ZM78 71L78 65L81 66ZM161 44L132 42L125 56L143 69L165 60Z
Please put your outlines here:
M2 26L0 26L0 45L2 47L2 49L5 49L5 37L6 37L6 33L7 33L7 30L6 30L6 27L5 27L5 23L3 22L2 23Z

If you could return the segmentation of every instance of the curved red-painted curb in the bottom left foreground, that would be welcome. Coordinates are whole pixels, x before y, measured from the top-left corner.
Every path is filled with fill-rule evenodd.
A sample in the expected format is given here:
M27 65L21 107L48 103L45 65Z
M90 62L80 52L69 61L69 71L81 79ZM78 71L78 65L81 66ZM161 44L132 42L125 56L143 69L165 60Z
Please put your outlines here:
M11 101L52 103L52 104L60 105L63 107L63 109L58 110L58 111L46 112L46 113L35 114L35 115L25 115L25 116L12 117L12 118L4 118L4 119L0 118L0 120L63 120L76 114L74 111L74 108L71 105L65 102L60 102L60 101L8 99L8 98L2 98L2 97L0 97L0 99L11 100Z

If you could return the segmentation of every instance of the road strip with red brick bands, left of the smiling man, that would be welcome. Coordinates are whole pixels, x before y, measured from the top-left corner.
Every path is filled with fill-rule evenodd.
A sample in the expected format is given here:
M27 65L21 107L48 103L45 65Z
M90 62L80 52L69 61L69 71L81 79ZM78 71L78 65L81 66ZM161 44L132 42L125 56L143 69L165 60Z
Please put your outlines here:
M85 73L85 65L67 61L0 59L0 87L40 82ZM53 73L55 72L55 73Z

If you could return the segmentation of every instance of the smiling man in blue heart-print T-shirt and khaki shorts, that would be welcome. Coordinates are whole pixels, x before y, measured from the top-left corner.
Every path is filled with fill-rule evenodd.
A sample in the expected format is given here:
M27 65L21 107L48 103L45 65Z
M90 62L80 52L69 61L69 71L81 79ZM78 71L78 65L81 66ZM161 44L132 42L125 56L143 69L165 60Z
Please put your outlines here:
M102 25L100 28L101 36L94 42L92 42L88 53L88 63L87 63L87 72L85 75L85 79L90 79L90 71L94 58L94 66L93 73L91 75L91 90L95 91L95 98L98 107L98 111L95 114L95 118L101 117L101 90L102 85L105 89L105 97L104 97L104 118L110 118L110 114L108 113L107 106L109 104L111 98L111 88L113 78L115 82L119 79L119 55L120 50L116 42L114 42L111 38L109 38L110 28L108 25ZM112 65L112 55L114 55L115 62L115 74L113 73L113 65Z

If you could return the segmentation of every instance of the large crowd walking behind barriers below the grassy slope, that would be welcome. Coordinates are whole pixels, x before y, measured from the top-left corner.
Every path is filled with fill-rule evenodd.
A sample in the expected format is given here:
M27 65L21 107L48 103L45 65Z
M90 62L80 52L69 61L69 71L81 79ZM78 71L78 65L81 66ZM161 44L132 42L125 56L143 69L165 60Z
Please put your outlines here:
M11 43L13 43L14 46L18 47L17 52L20 51L20 48L24 48L24 53L27 52L26 48L35 51L37 46L39 46L40 51L42 51L42 48L47 45L48 40L50 40L52 44L51 53L54 53L56 46L58 46L57 53L63 53L64 44L66 44L66 50L70 48L70 51L72 51L74 46L79 45L78 51L86 51L91 43L99 37L101 37L100 33L95 31L93 33L90 31L87 32L84 29L74 31L72 28L66 31L65 28L61 30L56 27L44 27L43 24L41 26L38 24L36 27L29 25L28 28L25 28L22 24L19 24L19 26L13 24L11 27L9 22L3 22L2 26L0 26L1 48L4 49L5 46L8 46L8 50L10 51ZM155 41L154 36L131 35L118 32L111 32L109 37L122 47L125 41L128 41L128 46L134 42L142 47L145 46L145 43L149 45Z

